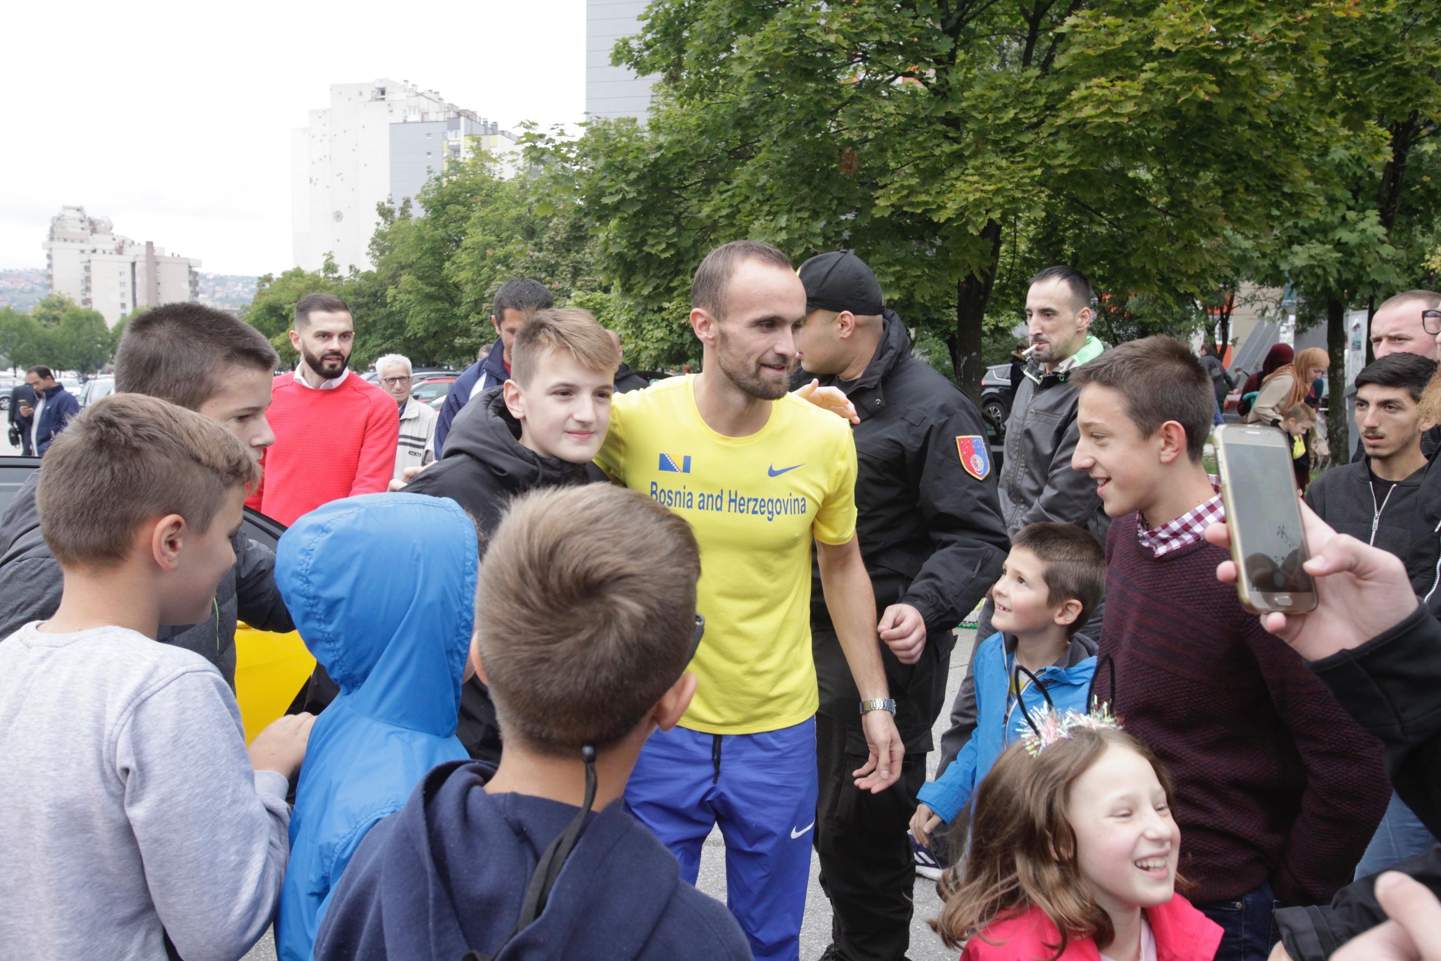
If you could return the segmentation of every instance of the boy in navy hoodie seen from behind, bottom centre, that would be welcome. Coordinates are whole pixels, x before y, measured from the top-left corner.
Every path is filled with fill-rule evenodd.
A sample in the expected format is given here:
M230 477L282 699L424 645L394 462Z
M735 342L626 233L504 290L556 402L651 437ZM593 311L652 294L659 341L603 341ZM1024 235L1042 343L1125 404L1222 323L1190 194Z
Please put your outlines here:
M641 494L589 484L514 501L486 553L471 647L500 766L437 766L369 833L317 961L751 957L621 801L646 739L696 690L683 671L703 628L699 576L689 524Z

